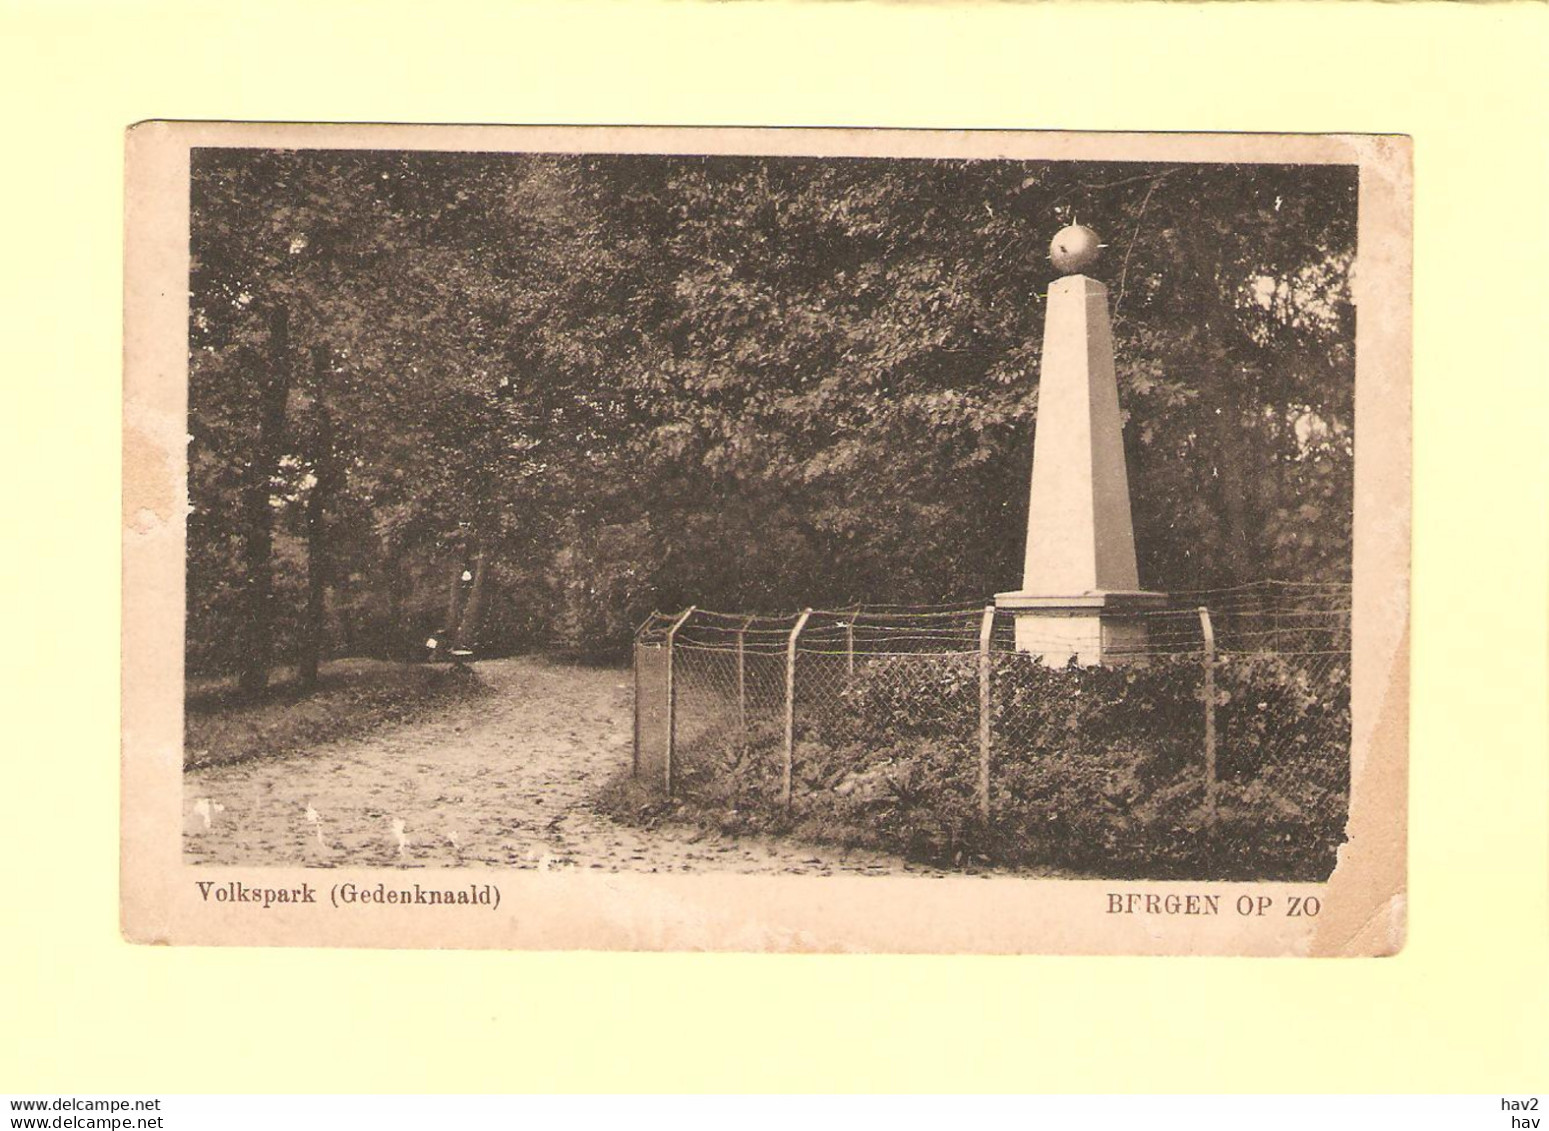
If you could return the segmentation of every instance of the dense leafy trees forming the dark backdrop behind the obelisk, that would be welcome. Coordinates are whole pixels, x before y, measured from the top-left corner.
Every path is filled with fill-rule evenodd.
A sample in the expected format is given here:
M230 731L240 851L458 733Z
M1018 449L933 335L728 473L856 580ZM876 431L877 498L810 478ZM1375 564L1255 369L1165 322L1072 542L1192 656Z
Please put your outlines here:
M1013 587L1049 235L1142 581L1345 579L1345 167L197 150L195 671Z

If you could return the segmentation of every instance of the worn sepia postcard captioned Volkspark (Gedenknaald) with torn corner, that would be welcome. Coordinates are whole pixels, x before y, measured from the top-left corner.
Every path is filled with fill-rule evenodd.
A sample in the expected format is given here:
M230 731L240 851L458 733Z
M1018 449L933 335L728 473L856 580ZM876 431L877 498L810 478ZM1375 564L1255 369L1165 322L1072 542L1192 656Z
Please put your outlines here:
M1396 139L152 129L189 914L776 877L1145 948L1315 919L1363 767L1402 883ZM683 930L606 945L830 945Z

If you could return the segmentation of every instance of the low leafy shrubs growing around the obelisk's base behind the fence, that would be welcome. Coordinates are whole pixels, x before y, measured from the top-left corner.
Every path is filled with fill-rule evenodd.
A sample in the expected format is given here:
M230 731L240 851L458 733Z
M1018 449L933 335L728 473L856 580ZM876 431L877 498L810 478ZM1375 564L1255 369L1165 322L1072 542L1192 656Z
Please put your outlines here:
M804 657L812 660L812 657ZM790 830L948 866L1038 866L1140 878L1321 880L1345 840L1349 669L1343 658L1228 655L1216 666L1218 810L1205 809L1197 655L1046 668L996 655L991 821L976 782L973 655L871 658L836 710L802 716L793 806L781 739L688 736L682 812L733 832ZM660 812L654 798L615 810Z

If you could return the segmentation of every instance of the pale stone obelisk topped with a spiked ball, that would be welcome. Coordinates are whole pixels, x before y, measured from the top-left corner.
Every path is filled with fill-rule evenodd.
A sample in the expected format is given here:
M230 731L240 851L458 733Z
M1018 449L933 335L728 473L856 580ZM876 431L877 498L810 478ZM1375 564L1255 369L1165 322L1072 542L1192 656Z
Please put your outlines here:
M1055 666L1143 652L1140 614L1166 604L1135 570L1108 288L1080 274L1098 246L1080 226L1050 245L1064 277L1049 288L1044 322L1027 558L1022 587L994 598L1016 617L1016 649Z

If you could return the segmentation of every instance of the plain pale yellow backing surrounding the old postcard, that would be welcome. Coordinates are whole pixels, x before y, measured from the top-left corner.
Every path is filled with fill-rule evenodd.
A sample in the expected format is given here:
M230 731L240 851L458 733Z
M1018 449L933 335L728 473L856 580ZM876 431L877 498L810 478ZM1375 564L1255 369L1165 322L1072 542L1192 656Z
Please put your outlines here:
M1549 1089L1546 20L1516 5L3 3L0 1091ZM141 118L1411 133L1406 950L121 942L121 156Z

